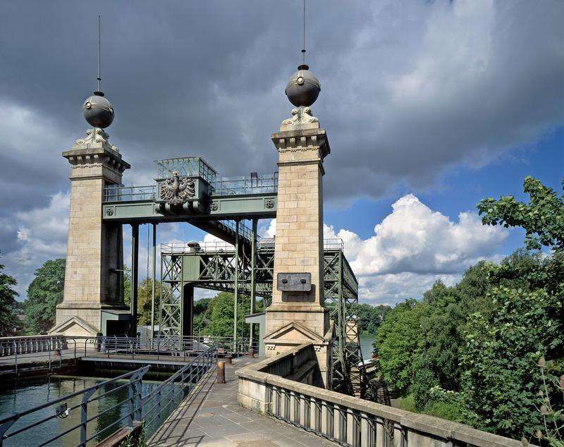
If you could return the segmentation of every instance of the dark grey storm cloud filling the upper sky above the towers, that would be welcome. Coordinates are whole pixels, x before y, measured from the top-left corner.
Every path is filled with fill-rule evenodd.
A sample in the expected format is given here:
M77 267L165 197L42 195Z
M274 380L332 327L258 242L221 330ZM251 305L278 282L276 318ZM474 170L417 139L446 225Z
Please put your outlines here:
M329 201L428 188L564 122L562 1L307 5ZM87 128L98 14L102 90L116 109L108 131L133 166L124 183L142 184L168 157L202 156L223 176L276 170L270 134L290 116L283 90L300 62L300 11L300 0L1 2L3 255L49 238L26 216L64 209L61 152ZM29 232L18 239L20 228ZM61 228L45 256L66 243Z

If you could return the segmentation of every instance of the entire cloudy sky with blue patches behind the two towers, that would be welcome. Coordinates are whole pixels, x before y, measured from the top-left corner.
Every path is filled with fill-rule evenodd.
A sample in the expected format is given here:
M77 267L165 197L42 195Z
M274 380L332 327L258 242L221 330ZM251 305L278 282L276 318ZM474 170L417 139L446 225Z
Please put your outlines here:
M307 63L327 130L326 237L345 241L360 301L419 298L479 259L522 246L476 204L527 175L561 191L564 2L308 0ZM0 3L0 250L20 298L66 254L68 162L95 87L116 110L112 144L143 185L154 159L202 156L223 176L276 170L270 135L290 116L301 1ZM275 224L261 222L264 233ZM141 228L140 269L146 269ZM125 259L130 229L124 228ZM209 238L159 226L159 243Z

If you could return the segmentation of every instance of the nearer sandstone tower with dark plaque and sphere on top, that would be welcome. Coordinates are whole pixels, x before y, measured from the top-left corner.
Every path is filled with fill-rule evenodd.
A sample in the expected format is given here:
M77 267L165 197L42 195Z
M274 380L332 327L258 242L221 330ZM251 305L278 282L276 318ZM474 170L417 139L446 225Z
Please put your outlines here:
M312 342L323 383L331 386L333 326L324 307L323 160L329 154L325 130L311 115L321 90L306 65L286 87L297 108L271 135L278 149L278 206L272 303L266 309L266 356Z

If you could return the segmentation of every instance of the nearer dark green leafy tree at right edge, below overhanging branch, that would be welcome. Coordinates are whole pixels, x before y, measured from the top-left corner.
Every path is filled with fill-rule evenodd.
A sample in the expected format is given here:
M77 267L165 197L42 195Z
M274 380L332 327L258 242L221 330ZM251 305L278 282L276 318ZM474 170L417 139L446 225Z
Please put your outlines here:
M461 355L467 405L484 429L520 438L541 427L535 407L542 384L537 361L564 357L563 295L551 293L554 278L541 271L558 271L562 264L560 255L527 258L521 252L490 267L493 284L487 296L494 308L470 315Z

